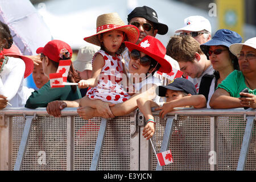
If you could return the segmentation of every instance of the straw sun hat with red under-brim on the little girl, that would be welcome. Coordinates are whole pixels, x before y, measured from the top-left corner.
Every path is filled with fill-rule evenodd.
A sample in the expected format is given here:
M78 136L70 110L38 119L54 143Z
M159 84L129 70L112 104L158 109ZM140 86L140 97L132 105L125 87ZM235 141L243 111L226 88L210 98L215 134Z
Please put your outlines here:
M110 30L120 30L125 32L128 41L131 43L137 42L139 38L139 29L131 24L126 25L117 13L102 14L98 16L96 28L97 34L84 38L86 42L92 43L96 46L100 46L98 34Z

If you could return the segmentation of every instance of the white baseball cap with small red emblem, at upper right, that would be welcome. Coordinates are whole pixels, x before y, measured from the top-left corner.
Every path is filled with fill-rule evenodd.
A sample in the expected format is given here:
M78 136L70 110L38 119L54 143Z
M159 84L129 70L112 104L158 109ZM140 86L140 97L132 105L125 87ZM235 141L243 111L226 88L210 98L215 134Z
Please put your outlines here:
M179 28L175 31L175 33L186 31L198 32L202 30L207 30L212 33L212 26L210 26L210 22L208 19L203 16L189 16L184 19L184 27Z

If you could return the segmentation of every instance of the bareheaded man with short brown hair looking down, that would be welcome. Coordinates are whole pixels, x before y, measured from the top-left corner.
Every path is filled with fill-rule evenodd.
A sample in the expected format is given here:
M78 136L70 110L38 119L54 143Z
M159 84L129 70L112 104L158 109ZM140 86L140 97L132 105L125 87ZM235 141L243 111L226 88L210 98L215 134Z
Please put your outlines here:
M166 54L173 57L180 65L180 71L193 82L197 93L201 78L213 74L213 67L207 56L201 51L200 44L192 36L174 36L167 45Z

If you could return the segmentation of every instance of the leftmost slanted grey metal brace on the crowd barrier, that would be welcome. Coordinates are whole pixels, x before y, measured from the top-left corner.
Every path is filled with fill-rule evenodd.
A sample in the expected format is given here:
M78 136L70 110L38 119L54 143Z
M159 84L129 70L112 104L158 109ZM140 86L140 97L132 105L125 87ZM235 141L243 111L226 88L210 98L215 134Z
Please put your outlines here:
M14 166L14 171L20 171L22 169L23 159L26 154L27 144L30 138L31 127L35 118L36 118L35 115L26 116L26 123L22 133L22 139L20 141L19 151L16 158L15 166Z

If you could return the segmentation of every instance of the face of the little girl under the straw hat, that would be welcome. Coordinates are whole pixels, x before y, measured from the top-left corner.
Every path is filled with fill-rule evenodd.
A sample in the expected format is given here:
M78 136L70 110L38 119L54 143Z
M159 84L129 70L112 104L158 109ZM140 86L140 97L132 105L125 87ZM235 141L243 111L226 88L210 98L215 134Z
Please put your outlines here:
M115 53L123 42L123 32L119 30L108 31L103 34L102 41L106 51Z

